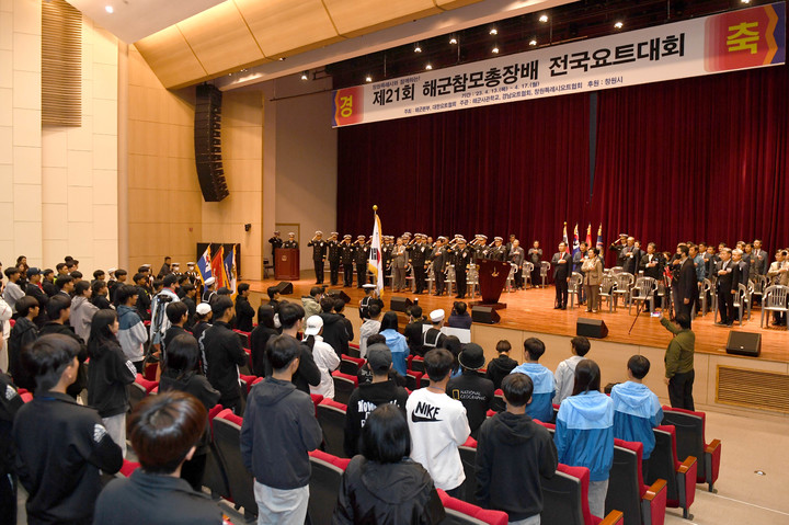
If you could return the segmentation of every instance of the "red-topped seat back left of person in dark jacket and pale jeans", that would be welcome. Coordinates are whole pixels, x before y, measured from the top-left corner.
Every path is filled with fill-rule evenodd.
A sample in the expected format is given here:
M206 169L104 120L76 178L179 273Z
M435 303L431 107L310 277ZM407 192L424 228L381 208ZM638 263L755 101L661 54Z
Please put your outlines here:
M254 478L247 471L241 459L241 418L230 410L214 418L214 443L228 477L228 487L233 503L244 509L245 514L258 515L254 499Z

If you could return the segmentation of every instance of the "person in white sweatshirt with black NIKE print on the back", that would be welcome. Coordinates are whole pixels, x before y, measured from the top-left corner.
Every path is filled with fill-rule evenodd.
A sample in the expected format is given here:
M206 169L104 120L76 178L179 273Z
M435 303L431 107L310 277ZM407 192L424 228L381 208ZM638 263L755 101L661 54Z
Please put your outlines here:
M458 447L471 429L460 401L446 395L454 358L445 349L425 354L427 388L420 388L405 402L409 431L413 441L411 458L427 469L438 489L457 497L466 479Z

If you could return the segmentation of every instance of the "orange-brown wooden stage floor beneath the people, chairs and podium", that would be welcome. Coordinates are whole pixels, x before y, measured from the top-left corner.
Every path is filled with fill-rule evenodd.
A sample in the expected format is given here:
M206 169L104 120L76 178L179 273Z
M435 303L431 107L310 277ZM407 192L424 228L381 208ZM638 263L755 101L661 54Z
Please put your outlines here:
M302 277L305 274L302 273ZM341 276L342 278L342 276ZM327 276L328 284L329 278ZM252 281L250 283L250 289L252 292L262 293L265 295L265 290L268 286L275 285L278 282L274 279L266 281ZM315 278L301 278L300 281L294 281L294 293L293 295L284 296L287 300L298 300L302 295L309 295L309 289L315 286ZM340 286L329 286L331 289L342 289L351 297L351 305L357 305L358 301L364 297L362 289L356 288L344 288ZM419 304L422 310L430 312L436 308L443 308L449 313L451 310L453 303L457 299L454 297L436 297L433 295L414 295L414 294L393 294L387 289L384 294L384 301L389 307L389 299L392 296L402 296L414 299L419 297ZM636 307L630 315L628 315L627 307L619 305L618 310L609 313L608 305L605 304L605 308L597 313L590 313L585 311L585 307L574 308L567 310L554 310L553 309L554 289L553 286L546 288L529 288L526 290L503 293L500 299L501 303L507 305L506 309L499 310L501 316L501 322L498 324L501 328L525 330L530 332L548 333L556 335L574 335L575 334L575 322L579 317L603 319L608 327L608 336L606 341L624 344L638 344L642 346L653 346L658 349L665 349L671 341L671 333L666 331L660 323L658 317L650 317L648 311L642 311L636 321L636 326L632 332L628 334L628 330L636 319ZM477 297L479 299L479 297ZM464 299L466 303L477 299ZM696 332L696 352L716 355L725 355L725 345L729 338L729 332L745 331L745 332L759 332L762 333L762 356L761 359L775 361L780 363L789 363L789 332L786 329L769 327L759 328L759 316L761 310L758 308L751 312L751 320L743 319L743 326L740 327L734 323L734 328L719 327L714 324L712 312L707 313L705 317L697 317L693 322L693 330ZM347 309L346 315L354 317L355 310Z

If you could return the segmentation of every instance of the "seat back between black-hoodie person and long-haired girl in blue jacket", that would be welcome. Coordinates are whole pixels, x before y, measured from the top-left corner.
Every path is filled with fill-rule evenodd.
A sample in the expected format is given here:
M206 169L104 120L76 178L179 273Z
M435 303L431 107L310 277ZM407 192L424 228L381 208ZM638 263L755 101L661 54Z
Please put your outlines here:
M541 478L541 525L592 523L588 509L588 469L559 464L551 479Z

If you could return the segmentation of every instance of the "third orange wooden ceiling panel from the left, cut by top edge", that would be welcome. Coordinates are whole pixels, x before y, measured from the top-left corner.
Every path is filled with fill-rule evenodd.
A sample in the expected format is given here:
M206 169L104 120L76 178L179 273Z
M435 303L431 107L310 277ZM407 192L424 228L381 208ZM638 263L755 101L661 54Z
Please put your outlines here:
M233 0L266 57L342 39L321 0Z

